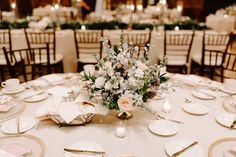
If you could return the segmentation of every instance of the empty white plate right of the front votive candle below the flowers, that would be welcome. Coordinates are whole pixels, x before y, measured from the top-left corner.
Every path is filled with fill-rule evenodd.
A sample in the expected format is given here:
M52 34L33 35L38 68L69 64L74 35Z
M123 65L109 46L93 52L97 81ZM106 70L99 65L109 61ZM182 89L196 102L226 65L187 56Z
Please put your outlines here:
M151 132L161 136L172 136L179 130L176 123L168 120L154 120L148 125L148 128Z

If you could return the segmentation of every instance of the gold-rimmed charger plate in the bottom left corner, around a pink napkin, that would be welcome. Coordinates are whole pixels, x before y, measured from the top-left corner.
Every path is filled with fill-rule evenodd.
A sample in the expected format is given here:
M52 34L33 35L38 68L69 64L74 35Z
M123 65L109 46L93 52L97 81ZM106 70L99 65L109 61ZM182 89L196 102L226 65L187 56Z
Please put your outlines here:
M30 149L29 155L27 157L44 157L45 145L44 142L33 135L19 134L12 136L2 136L0 137L0 149L6 145L22 144L28 146Z

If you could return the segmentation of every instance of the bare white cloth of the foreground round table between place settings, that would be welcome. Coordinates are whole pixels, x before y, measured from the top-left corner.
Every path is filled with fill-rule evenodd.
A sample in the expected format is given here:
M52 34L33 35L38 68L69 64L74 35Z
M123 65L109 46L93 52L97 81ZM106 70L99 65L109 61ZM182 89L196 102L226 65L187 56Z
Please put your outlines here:
M76 79L66 80L60 86L70 87L73 82L76 82ZM164 99L149 102L149 106L153 110L161 111L163 102L166 99L169 100L171 112L164 115L184 122L184 124L178 124L179 131L173 136L163 137L152 133L148 129L148 124L153 120L153 116L140 109L136 109L133 112L133 117L127 121L127 135L124 138L115 136L115 128L120 120L116 118L116 112L113 111L105 116L95 115L92 121L85 126L58 127L51 120L40 121L36 127L25 134L34 135L43 140L46 148L45 157L63 157L63 148L80 141L93 141L100 144L104 148L107 157L127 154L133 154L137 157L166 157L165 144L173 139L198 141L206 157L208 148L214 141L224 137L235 137L236 130L223 127L215 120L217 115L226 112L222 107L224 93L215 91L216 99L201 100L191 95L193 89L193 86L178 82L178 86L173 86L166 92ZM15 94L14 97L20 97L27 90L29 89ZM193 102L206 104L209 106L209 113L202 116L186 113L182 109L185 98L191 99ZM51 95L40 102L25 103L25 110L21 116L35 117L35 112L41 105L50 103L52 103ZM6 135L1 132L0 136Z

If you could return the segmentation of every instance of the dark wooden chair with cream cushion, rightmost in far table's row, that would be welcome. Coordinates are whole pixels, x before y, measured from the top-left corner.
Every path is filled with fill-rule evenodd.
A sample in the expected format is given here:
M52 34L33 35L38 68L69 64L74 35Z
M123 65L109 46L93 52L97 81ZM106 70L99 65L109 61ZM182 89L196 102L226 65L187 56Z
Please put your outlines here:
M219 70L223 82L223 69L226 54L232 35L224 32L203 31L202 53L192 57L193 69L198 69L200 75L214 79L216 70Z

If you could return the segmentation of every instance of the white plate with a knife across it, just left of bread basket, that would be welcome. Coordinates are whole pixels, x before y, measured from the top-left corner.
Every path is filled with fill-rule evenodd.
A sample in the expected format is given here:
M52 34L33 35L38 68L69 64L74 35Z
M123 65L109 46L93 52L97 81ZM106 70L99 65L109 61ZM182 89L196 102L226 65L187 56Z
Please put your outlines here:
M36 125L36 120L31 117L20 117L19 119L19 132L23 133L32 129ZM11 119L3 123L1 130L6 134L17 133L17 119Z

